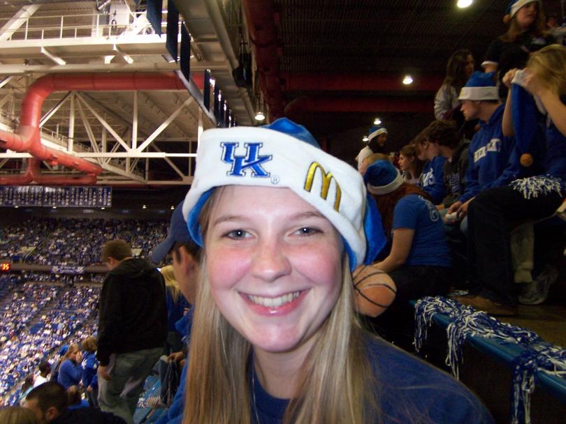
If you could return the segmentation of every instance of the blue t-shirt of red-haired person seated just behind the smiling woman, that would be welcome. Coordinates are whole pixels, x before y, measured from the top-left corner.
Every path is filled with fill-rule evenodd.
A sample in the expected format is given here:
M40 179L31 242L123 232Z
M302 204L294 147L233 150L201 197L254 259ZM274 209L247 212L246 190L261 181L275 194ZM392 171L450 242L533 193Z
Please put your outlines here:
M444 225L435 205L419 195L402 197L393 210L393 229L414 229L407 265L450 266Z

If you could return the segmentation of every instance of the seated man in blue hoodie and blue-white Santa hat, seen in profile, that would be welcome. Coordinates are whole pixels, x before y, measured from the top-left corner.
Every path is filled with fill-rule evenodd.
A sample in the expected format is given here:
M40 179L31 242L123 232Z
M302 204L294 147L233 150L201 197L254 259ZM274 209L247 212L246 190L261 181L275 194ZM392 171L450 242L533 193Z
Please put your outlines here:
M517 178L520 167L514 137L503 135L502 118L505 106L499 100L493 73L476 71L460 91L465 119L479 119L468 149L466 187L448 213L456 212L458 220L467 214L470 202L481 190L508 185Z

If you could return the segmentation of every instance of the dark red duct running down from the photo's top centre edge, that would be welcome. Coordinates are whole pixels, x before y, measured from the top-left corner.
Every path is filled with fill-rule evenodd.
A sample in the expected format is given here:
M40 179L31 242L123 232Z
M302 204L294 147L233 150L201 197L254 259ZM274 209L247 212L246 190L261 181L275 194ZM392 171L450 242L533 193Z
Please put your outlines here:
M281 91L280 49L273 0L243 0L242 7L256 53L261 89L270 115L278 118L283 116L284 100Z

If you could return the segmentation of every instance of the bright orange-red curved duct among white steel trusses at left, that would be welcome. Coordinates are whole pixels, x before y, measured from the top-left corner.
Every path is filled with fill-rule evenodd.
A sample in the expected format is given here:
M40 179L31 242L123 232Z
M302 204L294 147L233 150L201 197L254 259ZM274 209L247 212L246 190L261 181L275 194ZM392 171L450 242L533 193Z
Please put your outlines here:
M195 75L199 88L203 87L203 76ZM43 101L53 91L129 91L129 90L184 90L185 87L175 73L88 73L52 74L41 77L29 86L22 101L20 127L17 132L0 130L0 147L17 152L29 152L38 160L71 167L89 175L102 172L99 165L43 146L39 132ZM23 178L23 176L22 176ZM68 181L65 176L40 177L50 179L51 184ZM78 181L70 177L73 181ZM88 179L91 181L91 179ZM96 182L96 178L94 179ZM66 182L61 182L66 183Z

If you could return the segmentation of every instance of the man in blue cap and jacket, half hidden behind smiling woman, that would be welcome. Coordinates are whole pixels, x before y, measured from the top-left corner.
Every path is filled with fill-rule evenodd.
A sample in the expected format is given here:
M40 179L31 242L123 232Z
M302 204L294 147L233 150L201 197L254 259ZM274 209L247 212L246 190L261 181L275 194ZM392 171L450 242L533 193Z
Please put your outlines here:
M173 403L161 414L157 424L180 424L184 407L184 386L187 376L187 344L191 338L192 311L196 296L196 279L200 269L201 247L194 243L187 229L187 222L182 215L182 202L175 208L169 224L167 237L152 252L152 261L162 262L167 255L173 259L173 274L180 289L180 295L187 300L184 315L175 322L175 330L182 335L184 349L175 351L168 357L169 361L177 361L182 367L179 388ZM166 267L164 267L166 268ZM163 268L162 268L163 269Z

